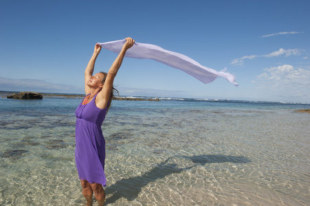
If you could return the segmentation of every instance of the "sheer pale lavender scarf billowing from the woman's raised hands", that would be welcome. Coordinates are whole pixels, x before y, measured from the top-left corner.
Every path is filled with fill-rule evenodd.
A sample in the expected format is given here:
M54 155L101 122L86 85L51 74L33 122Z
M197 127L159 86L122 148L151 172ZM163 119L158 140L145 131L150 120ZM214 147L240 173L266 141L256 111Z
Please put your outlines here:
M108 49L111 52L120 54L122 46L125 42L126 40L123 39L119 41L110 41L107 43L99 44L104 49ZM133 47L127 50L125 56L130 58L153 59L175 69L180 69L181 71L188 73L190 76L197 78L197 80L200 80L205 84L213 82L216 78L221 76L235 86L239 85L236 83L236 78L231 73L226 72L225 69L222 71L216 71L214 69L204 67L188 56L168 51L157 45L135 42Z

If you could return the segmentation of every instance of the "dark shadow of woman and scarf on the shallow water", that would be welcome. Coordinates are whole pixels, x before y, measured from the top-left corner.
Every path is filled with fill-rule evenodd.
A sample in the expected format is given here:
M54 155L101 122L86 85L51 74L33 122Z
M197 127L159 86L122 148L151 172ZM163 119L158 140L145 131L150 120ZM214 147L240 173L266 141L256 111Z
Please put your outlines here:
M121 179L115 184L106 187L105 193L107 195L113 194L106 200L106 204L115 203L120 198L126 198L128 201L133 201L142 190L142 187L156 181L157 179L163 179L165 176L170 174L177 174L185 170L190 170L197 165L205 165L206 163L248 163L249 159L245 157L235 157L228 155L198 155L198 156L176 156L184 159L190 159L194 165L187 168L178 168L176 163L168 163L170 159L175 157L170 157L166 161L157 164L155 168L151 171L146 172L142 176L135 176L129 179Z

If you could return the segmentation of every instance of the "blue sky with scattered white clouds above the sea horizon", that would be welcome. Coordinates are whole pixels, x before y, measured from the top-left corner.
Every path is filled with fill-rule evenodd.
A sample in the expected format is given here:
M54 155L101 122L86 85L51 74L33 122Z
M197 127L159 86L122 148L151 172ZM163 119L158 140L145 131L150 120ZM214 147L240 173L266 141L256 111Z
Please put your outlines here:
M131 36L189 56L223 78L203 84L125 58L121 95L310 103L310 1L0 1L0 90L83 93L96 43ZM116 55L102 49L95 72Z

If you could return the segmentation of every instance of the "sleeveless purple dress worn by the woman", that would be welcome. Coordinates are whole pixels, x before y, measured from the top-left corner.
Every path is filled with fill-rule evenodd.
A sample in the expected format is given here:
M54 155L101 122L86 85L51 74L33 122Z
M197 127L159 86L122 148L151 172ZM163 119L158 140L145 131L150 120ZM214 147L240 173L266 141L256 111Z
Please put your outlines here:
M95 103L96 96L97 94L85 105L82 104L82 100L76 108L76 168L80 180L99 183L105 187L105 140L101 126L108 106L98 108Z

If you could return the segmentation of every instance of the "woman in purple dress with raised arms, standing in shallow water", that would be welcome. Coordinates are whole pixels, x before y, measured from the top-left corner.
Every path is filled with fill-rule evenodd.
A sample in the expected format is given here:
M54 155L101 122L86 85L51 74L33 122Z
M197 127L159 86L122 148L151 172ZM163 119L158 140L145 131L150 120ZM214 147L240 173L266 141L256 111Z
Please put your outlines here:
M122 65L127 49L135 41L126 38L122 51L113 62L108 73L96 73L93 69L101 46L96 44L93 56L85 69L86 96L76 108L76 168L82 185L82 194L87 205L91 205L93 193L99 205L104 205L106 186L104 175L105 141L101 125L113 98L113 80ZM103 187L102 187L103 186Z

